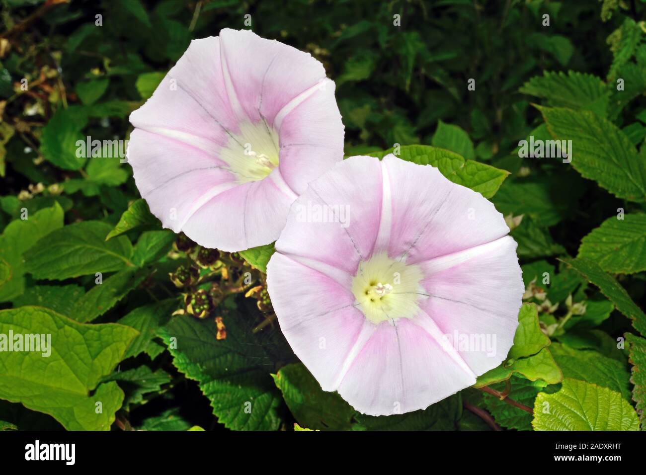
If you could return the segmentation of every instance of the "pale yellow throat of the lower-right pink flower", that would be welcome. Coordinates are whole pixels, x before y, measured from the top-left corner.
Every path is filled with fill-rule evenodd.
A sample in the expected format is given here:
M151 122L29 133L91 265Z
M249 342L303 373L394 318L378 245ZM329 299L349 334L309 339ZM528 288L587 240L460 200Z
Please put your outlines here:
M380 323L417 315L423 290L419 266L390 259L387 253L360 262L352 280L352 293L366 319Z

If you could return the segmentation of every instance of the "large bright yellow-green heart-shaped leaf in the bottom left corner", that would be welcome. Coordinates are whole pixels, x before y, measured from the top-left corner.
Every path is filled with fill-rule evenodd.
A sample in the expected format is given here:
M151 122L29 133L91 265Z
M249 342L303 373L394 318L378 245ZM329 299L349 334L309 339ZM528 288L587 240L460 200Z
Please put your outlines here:
M43 357L42 347L39 352L0 352L0 399L50 414L68 430L109 430L123 392L116 383L99 381L121 361L136 330L114 323L80 324L26 306L0 311L0 334L10 331L51 335L50 355Z

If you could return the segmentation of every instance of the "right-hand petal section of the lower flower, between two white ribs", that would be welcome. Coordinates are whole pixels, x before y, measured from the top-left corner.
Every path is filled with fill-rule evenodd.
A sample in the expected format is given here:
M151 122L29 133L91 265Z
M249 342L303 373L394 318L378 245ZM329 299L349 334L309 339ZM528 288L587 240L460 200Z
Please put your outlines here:
M505 236L420 265L429 295L421 308L475 374L498 366L514 344L525 291L514 239ZM470 343L460 350L460 340Z

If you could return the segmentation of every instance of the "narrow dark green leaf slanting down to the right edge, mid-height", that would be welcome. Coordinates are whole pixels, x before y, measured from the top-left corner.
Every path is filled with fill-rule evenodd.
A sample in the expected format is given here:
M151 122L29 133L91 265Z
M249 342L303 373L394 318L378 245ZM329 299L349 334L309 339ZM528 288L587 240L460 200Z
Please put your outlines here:
M605 273L597 264L585 257L559 260L596 285L601 293L614 303L617 310L632 320L632 326L642 335L646 335L646 314L630 299L628 292L612 275Z

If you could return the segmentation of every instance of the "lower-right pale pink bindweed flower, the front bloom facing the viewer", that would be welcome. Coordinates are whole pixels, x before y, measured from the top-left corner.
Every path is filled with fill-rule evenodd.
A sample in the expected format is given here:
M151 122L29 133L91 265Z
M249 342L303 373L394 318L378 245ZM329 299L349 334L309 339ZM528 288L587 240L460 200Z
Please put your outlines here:
M355 156L291 206L267 288L324 390L364 414L410 412L505 359L524 291L508 232L436 168Z

